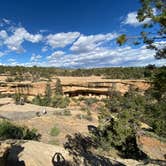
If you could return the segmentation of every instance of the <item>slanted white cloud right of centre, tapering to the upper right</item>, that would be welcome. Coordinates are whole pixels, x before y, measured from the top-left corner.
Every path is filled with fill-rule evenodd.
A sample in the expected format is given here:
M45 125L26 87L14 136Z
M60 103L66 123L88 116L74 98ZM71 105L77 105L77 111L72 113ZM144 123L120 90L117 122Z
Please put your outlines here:
M82 53L94 50L95 48L101 46L102 44L115 39L117 34L97 34L97 35L89 35L84 36L81 35L79 39L72 45L70 50Z

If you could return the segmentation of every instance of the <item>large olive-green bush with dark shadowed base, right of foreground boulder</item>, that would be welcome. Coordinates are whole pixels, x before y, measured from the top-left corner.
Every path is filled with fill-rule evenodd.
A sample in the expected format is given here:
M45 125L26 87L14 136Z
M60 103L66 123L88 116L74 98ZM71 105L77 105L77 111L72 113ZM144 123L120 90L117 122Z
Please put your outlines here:
M136 144L137 128L133 111L123 110L116 117L108 115L107 121L102 122L98 132L94 133L94 139L104 150L116 148L126 157L138 157L141 153Z

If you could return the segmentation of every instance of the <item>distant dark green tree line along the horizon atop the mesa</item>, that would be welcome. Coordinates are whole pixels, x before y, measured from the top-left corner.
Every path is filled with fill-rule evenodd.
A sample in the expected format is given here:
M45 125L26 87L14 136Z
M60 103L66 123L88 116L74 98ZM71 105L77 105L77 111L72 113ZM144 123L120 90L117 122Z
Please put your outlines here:
M23 67L23 66L0 66L0 74L14 76L15 81L24 81L31 78L38 81L40 78L50 80L51 76L103 76L110 79L144 79L150 78L159 67L148 65L146 67L111 67L92 69L61 69L55 67ZM8 78L10 81L10 78Z

